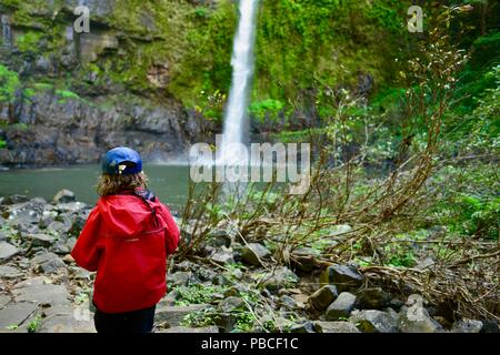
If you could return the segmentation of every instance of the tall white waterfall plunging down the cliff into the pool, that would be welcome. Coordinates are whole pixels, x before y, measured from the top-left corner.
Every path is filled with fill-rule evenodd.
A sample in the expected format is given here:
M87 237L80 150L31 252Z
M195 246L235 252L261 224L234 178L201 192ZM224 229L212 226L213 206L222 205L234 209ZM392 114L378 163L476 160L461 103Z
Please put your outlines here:
M253 77L253 44L259 0L240 0L239 24L232 49L232 82L224 114L224 125L218 161L222 164L241 163L238 150L231 144L247 143L247 109ZM244 162L242 162L244 163Z

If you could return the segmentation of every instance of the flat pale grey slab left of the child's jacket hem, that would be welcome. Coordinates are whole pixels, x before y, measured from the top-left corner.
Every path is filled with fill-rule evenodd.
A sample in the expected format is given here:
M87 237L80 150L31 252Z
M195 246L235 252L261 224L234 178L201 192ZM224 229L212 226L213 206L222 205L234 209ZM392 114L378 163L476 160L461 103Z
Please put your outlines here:
M53 285L44 276L32 277L14 285L12 294L16 302L32 302L38 304L68 304L68 290L63 285Z

